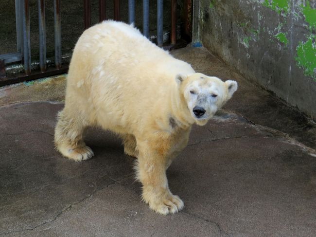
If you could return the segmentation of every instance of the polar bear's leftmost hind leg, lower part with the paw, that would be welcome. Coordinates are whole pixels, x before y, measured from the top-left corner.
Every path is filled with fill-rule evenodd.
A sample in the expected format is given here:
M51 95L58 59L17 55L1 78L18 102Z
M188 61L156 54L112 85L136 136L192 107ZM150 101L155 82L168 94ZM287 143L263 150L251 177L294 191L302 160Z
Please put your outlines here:
M86 127L80 116L71 116L71 110L63 109L58 113L58 123L55 128L55 147L60 153L74 161L84 161L94 154L83 141L83 131Z

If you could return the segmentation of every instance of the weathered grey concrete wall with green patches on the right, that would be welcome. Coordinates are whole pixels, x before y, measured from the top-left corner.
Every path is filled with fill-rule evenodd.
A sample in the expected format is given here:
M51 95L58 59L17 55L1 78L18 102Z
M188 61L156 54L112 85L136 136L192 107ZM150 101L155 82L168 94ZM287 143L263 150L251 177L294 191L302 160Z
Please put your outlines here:
M193 45L315 120L315 7L315 0L195 0Z

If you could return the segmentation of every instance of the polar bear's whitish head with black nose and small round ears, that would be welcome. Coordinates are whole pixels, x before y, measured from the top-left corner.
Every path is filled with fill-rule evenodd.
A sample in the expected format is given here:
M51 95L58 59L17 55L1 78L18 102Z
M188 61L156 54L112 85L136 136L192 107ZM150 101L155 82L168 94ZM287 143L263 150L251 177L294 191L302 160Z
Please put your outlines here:
M223 82L202 73L178 74L176 81L194 122L200 126L205 125L238 88L236 81Z

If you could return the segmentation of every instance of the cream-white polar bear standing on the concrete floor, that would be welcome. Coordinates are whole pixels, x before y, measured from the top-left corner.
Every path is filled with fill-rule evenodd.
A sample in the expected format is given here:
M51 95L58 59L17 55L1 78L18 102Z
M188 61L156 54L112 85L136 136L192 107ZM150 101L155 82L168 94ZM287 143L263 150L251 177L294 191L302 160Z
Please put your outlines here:
M93 156L85 128L114 131L125 153L137 158L143 201L160 214L176 213L183 201L171 193L166 169L187 145L192 125L205 125L236 90L235 81L195 73L132 25L104 21L74 48L55 147L84 161Z

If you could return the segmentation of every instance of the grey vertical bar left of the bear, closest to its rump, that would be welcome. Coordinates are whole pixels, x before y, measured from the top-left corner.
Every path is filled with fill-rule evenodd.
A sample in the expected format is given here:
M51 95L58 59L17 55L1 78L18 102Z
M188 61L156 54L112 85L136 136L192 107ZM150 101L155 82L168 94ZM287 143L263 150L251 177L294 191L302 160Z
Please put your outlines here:
M60 0L54 0L55 65L61 68L61 18Z

